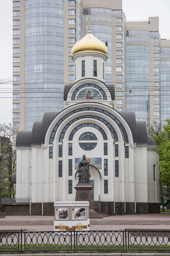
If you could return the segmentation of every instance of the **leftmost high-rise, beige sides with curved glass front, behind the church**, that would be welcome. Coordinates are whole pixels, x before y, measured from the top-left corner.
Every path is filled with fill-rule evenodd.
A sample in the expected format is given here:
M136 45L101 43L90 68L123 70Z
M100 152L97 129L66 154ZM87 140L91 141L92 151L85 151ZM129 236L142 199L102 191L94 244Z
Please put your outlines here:
M13 0L13 122L31 130L45 111L61 111L74 80L71 48L83 36L82 0Z

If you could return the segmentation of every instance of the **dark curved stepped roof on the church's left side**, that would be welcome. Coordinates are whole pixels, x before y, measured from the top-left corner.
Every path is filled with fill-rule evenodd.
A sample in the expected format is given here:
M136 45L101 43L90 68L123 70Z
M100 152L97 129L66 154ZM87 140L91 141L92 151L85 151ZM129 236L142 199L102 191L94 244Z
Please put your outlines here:
M19 131L17 133L16 147L25 148L44 144L48 126L58 113L45 112L42 121L34 122L32 131Z

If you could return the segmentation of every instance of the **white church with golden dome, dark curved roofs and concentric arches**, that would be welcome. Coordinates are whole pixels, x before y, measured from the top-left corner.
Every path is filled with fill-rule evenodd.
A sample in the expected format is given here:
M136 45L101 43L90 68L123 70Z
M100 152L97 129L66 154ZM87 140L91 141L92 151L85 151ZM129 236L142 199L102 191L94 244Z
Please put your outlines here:
M75 80L64 88L64 110L44 113L32 131L17 134L16 197L37 205L74 201L85 154L102 212L160 212L156 143L135 113L114 109L114 85L105 83L107 47L89 31L71 53Z

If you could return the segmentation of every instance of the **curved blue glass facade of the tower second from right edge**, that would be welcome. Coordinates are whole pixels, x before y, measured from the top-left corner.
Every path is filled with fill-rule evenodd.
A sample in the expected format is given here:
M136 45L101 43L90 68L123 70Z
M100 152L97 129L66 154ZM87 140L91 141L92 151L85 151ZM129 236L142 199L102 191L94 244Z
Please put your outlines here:
M145 36L148 31L128 31L128 35ZM127 37L128 38L128 37ZM143 42L143 41L142 41ZM127 45L127 111L134 111L136 120L149 125L149 46L147 44Z

